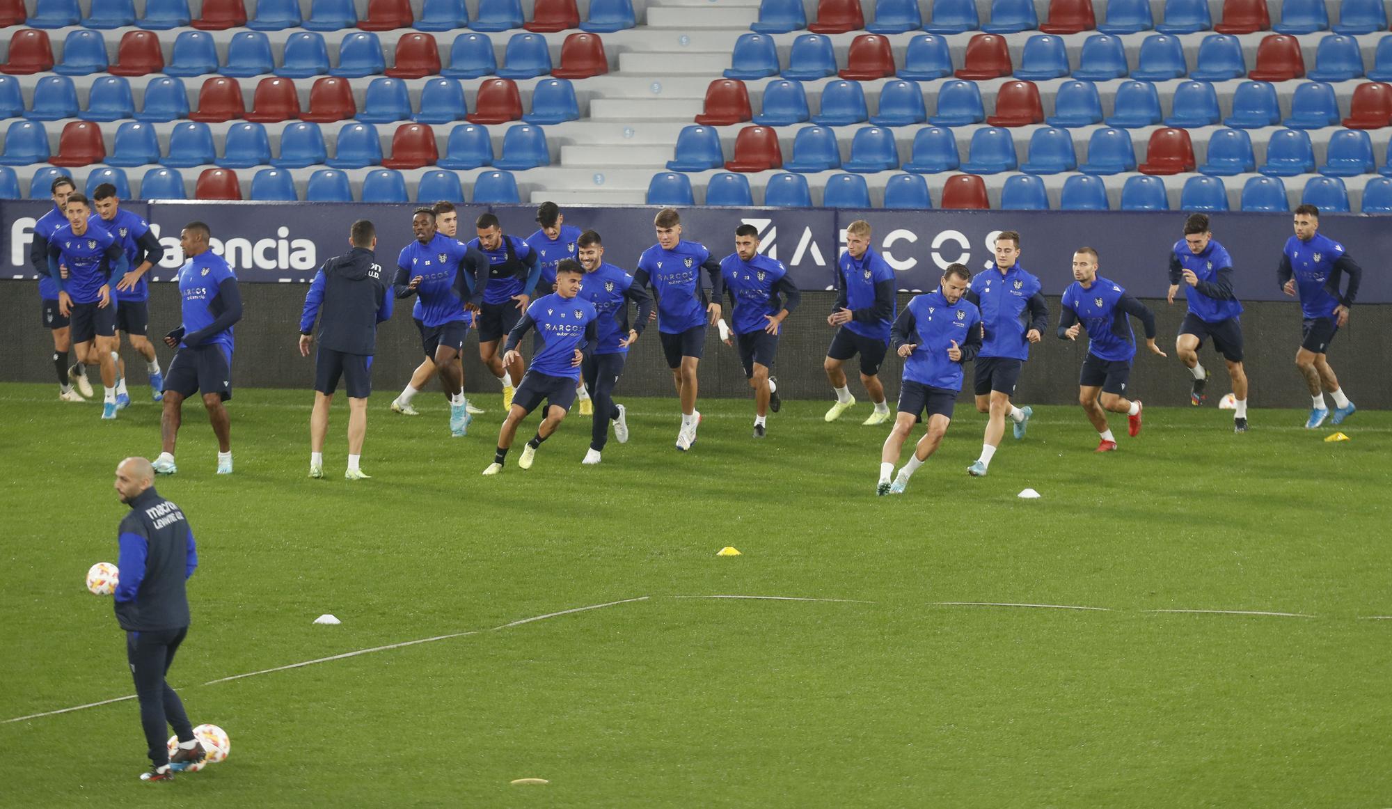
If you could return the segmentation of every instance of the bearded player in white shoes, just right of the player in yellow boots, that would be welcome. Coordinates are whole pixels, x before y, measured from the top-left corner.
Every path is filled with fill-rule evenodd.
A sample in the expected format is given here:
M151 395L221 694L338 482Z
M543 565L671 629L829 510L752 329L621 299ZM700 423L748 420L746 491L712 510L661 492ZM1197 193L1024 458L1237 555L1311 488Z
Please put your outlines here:
M638 343L653 312L653 299L643 287L633 283L633 276L604 260L604 244L600 234L587 230L576 239L580 267L585 277L580 281L579 297L589 301L599 313L594 327L594 343L580 363L583 384L575 388L576 395L586 386L594 391L592 408L590 448L582 464L599 464L600 453L608 441L608 427L614 425L618 443L628 441L628 419L624 405L614 402L614 387L624 373L628 349ZM553 281L554 283L554 281ZM628 302L638 305L638 320L629 326ZM544 345L544 343L543 343ZM540 354L540 351L537 351ZM583 408L580 414L583 415Z

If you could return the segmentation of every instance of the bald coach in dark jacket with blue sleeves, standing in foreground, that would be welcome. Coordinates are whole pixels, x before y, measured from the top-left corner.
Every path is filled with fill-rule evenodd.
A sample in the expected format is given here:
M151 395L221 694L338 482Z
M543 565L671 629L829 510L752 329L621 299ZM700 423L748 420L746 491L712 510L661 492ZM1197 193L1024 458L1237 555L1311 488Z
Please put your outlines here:
M168 781L207 755L193 737L184 702L164 680L188 636L185 582L198 568L198 546L184 511L155 490L155 468L148 460L127 458L117 465L116 493L131 507L117 539L121 581L114 595L150 756L150 770L141 773L141 780ZM178 737L173 756L164 741L167 727Z

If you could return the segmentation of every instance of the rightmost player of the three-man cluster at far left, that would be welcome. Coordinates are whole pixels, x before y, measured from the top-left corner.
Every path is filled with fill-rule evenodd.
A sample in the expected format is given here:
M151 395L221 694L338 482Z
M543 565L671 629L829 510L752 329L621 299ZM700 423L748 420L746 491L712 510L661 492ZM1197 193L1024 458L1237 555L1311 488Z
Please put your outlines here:
M145 358L145 370L150 375L150 398L160 401L164 398L164 375L160 372L159 356L155 355L155 344L150 343L146 331L150 323L150 267L164 258L164 246L150 230L149 223L131 213L121 210L121 201L116 198L116 185L103 182L92 189L92 201L96 206L97 221L111 234L121 249L125 251L125 260L129 265L121 280L116 284L116 330L124 331L131 341L131 348ZM117 351L121 348L121 338L117 334ZM124 408L131 404L131 395L125 390L125 361L120 361L116 404Z

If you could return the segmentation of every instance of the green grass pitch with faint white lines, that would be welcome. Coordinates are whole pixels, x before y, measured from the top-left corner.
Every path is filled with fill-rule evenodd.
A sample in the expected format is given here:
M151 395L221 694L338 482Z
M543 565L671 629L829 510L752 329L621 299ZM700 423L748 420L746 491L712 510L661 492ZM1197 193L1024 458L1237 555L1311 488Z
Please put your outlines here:
M117 461L159 451L132 393L107 423L0 386L0 720L132 692L110 599L82 586L116 561ZM675 402L626 400L603 465L579 465L576 409L533 469L514 450L482 478L498 397L458 440L438 395L416 419L388 401L356 483L341 404L324 480L310 394L237 391L231 478L185 408L157 485L202 567L170 680L231 756L139 783L134 700L4 723L0 805L1392 805L1392 621L1370 618L1392 615L1389 414L1325 443L1296 411L1236 436L1211 407L1151 407L1096 455L1077 408L1038 408L972 479L984 422L959 407L880 498L867 405L825 425L827 402L786 402L756 443L750 402L704 401L681 454ZM721 595L844 600L699 597Z

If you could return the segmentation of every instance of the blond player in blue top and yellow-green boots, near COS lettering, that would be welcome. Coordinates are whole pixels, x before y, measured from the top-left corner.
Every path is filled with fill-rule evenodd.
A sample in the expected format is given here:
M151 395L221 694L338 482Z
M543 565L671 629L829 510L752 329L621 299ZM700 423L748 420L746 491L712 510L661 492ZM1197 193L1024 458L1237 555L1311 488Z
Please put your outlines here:
M837 304L827 323L837 326L837 334L827 348L821 362L827 382L837 391L837 404L831 405L828 422L841 418L856 398L846 388L846 372L842 365L860 355L860 384L870 394L874 411L860 422L883 425L889 421L889 402L884 398L880 383L880 365L889 351L889 327L894 324L895 308L894 269L870 248L870 223L856 220L846 226L846 252L837 259Z

